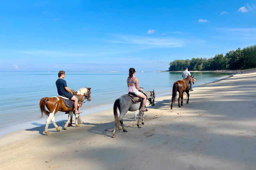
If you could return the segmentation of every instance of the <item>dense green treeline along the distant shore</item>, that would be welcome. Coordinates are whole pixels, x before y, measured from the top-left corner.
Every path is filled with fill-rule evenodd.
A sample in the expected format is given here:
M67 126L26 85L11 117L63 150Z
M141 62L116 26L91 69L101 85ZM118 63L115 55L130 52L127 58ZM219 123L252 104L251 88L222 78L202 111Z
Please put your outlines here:
M211 58L192 58L191 60L174 60L170 62L169 71L189 70L236 70L256 67L256 44L243 49L228 51L225 56L216 54Z

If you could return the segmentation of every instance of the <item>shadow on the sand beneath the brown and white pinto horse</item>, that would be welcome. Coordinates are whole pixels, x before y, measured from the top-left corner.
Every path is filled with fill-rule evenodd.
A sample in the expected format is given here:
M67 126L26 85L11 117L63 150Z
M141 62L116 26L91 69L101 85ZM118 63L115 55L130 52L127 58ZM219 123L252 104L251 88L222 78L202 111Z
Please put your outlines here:
M66 124L67 120L62 120L62 121L58 121L56 122L56 124L58 125L58 127L62 127L62 130L64 130L64 126ZM41 135L46 135L44 134L44 128L45 128L45 124L39 124L39 123L32 123L32 125L35 125L35 126L38 126L38 127L35 127L35 128L29 128L29 129L25 129L27 131L38 131L38 133L40 133ZM50 123L49 126L48 126L48 129L52 129L53 130L49 130L49 131L52 131L52 132L55 132L56 129L55 129L55 126L53 125L53 123Z

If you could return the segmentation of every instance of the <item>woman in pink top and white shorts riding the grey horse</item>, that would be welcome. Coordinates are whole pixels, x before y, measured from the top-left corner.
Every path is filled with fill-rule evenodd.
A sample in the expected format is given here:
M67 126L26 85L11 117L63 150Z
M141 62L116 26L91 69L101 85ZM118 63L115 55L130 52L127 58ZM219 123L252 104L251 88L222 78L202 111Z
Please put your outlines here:
M148 111L145 109L147 96L145 96L143 93L138 91L138 90L143 91L143 89L139 87L139 79L134 76L135 73L136 71L134 68L129 69L129 77L127 78L127 86L129 88L128 92L134 93L136 96L143 99L141 111L145 112L145 111Z

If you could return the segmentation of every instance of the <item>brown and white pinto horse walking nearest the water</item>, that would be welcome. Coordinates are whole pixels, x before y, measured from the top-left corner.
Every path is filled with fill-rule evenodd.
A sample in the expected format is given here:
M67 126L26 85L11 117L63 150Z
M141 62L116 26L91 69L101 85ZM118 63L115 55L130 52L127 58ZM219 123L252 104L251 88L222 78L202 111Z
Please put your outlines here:
M75 92L74 94L79 97L78 108L77 108L78 110L82 106L84 99L86 99L87 101L91 101L91 88L81 88L77 92ZM45 109L45 106L47 107L47 109L49 111L47 111ZM72 110L72 107L67 108L65 106L65 103L63 102L61 97L54 96L54 97L44 97L44 98L42 98L40 100L40 111L41 111L41 118L44 116L44 114L48 117L48 119L46 120L46 125L45 125L45 130L44 130L46 135L50 134L48 132L48 125L49 125L50 121L52 121L56 130L60 131L59 127L57 126L57 124L55 123L55 120L54 120L54 115L58 111L69 112L68 121L67 121L67 123L65 124L65 127L64 127L64 129L67 130L67 126L68 126L68 123L70 121L73 110ZM78 119L78 114L76 114L75 124L76 124L77 127L80 127L80 125L78 125L77 119Z

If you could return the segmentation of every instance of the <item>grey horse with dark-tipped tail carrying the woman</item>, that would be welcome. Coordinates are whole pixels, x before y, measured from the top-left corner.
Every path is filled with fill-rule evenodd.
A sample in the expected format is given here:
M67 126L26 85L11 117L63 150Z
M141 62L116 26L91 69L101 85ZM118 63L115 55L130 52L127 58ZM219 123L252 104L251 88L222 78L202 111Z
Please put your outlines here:
M155 91L154 90L146 91L144 93L147 95L147 99L148 99L149 103L152 106L155 106L155 97L156 97ZM118 118L118 114L117 114L117 108L120 111L119 118ZM138 128L141 128L139 126L139 122L140 122L140 118L142 117L142 125L144 125L144 112L141 112L140 103L134 103L132 101L132 99L130 97L128 97L127 95L123 95L123 96L119 97L118 99L116 99L116 101L114 103L114 107L113 107L114 117L115 117L115 128L113 131L113 137L116 137L116 128L118 128L118 130L120 130L119 122L121 123L123 131L127 132L127 130L125 130L124 125L123 125L123 117L127 113L127 111L134 112L138 109L139 109L139 118L138 118L137 126L138 126Z

